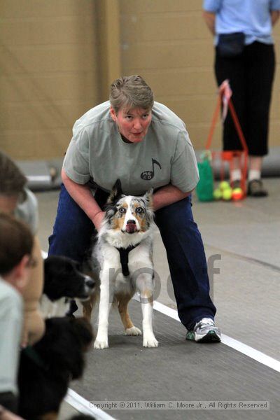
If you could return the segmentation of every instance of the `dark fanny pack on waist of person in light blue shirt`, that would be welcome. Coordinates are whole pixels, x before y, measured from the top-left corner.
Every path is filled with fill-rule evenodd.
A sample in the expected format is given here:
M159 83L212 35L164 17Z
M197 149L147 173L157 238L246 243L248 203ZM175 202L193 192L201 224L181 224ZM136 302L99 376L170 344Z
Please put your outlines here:
M245 46L245 34L233 32L232 34L221 34L218 36L217 51L220 57L230 58L241 54Z

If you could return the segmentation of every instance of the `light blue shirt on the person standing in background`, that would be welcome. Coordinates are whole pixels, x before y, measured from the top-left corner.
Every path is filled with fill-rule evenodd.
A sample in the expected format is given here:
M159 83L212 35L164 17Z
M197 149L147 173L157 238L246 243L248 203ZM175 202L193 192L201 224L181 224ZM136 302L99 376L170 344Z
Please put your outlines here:
M280 10L280 0L204 0L204 10L216 14L217 35L243 32L246 45L274 43L270 12Z

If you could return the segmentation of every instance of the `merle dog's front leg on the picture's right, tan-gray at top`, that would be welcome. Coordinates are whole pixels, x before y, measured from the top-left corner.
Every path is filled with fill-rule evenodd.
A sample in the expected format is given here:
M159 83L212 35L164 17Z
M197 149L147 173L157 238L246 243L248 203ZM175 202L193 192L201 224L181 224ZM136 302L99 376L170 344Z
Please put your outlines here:
M153 333L153 279L141 274L137 279L143 314L143 346L158 347L158 340Z

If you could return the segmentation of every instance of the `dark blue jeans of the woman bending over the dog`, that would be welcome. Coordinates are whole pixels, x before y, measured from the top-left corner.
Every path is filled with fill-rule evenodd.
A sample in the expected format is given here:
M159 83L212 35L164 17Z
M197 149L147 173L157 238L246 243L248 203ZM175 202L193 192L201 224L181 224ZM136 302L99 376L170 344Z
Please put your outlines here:
M97 190L95 199L99 206L105 204L107 196ZM155 223L167 251L179 318L191 330L201 318L214 318L216 307L209 296L204 246L193 220L190 197L156 211ZM49 255L66 255L81 262L93 232L92 221L62 185L57 217L49 237Z

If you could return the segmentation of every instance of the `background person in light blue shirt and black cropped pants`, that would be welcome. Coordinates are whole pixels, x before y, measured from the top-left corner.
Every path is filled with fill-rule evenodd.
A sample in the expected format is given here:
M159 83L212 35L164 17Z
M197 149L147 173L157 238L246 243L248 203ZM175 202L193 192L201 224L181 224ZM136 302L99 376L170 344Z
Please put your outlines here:
M279 19L280 0L204 0L203 18L215 36L215 74L218 85L230 80L235 106L248 146L248 191L265 197L262 160L268 153L269 106L275 69L272 27ZM241 150L232 117L223 126L223 149ZM239 187L241 169L235 158L230 174Z

